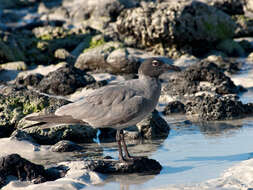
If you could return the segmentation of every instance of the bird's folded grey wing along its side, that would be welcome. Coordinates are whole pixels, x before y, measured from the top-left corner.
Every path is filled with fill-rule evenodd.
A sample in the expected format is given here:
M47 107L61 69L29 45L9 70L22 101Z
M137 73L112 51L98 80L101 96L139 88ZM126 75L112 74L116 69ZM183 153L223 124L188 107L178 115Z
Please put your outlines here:
M138 92L124 85L107 86L59 108L55 114L70 115L94 127L124 125L143 112L147 100Z

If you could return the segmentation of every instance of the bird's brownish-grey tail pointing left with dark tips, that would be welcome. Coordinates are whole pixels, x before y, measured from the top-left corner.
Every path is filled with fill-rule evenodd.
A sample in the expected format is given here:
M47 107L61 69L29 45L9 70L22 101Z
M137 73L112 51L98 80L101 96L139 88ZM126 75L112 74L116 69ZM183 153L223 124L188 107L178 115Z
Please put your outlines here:
M44 125L44 124L82 124L82 125L88 125L88 123L79 120L79 119L74 119L70 115L63 115L63 116L58 116L58 115L38 115L38 116L30 116L25 118L28 121L37 121L38 123L29 125L25 128L30 128L34 127L37 125Z

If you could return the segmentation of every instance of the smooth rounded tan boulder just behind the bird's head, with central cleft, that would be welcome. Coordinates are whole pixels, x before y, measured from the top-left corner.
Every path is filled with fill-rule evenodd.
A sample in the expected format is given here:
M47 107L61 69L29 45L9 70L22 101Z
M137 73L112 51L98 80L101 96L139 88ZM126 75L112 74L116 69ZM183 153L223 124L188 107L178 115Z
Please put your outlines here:
M149 57L154 56L145 51L124 47L119 42L105 42L85 50L77 58L75 67L112 74L132 74L137 73L139 65ZM166 57L161 56L161 59L171 63Z

